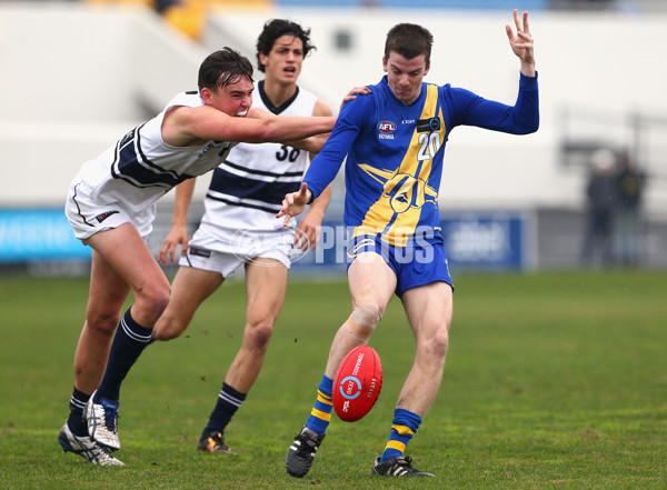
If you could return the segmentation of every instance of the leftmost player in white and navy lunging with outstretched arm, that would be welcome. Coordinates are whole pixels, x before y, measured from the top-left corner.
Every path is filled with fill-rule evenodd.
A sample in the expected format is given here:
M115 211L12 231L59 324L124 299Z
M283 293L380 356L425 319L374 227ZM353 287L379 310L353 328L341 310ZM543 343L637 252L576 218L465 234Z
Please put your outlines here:
M70 414L58 440L96 464L122 464L109 451L120 447L120 386L169 302L169 281L145 241L158 199L218 167L239 141L298 140L327 133L336 121L251 108L252 64L229 48L203 60L198 86L84 163L69 189L66 213L76 237L92 248L92 263ZM130 290L135 303L121 318Z

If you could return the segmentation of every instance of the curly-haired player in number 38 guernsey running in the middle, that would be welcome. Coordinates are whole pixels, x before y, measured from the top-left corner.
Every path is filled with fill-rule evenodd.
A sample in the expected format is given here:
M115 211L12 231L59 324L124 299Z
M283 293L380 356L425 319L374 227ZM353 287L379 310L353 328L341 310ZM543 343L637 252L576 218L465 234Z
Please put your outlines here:
M301 63L311 49L310 30L288 20L268 21L257 40L258 68L266 78L256 82L253 107L280 116L330 116L327 104L297 86ZM326 137L317 139L323 144ZM171 301L156 324L153 339L180 336L199 306L239 267L246 269L243 340L201 433L197 446L201 451L231 452L223 441L225 428L261 369L285 300L292 247L306 250L317 243L329 187L312 202L298 230L293 223L283 228L282 220L276 218L285 194L299 189L307 163L308 153L288 144L235 147L213 171L205 199L206 213L189 242L186 218L195 182L186 181L177 188L173 224L159 260L175 261L179 244L182 257Z

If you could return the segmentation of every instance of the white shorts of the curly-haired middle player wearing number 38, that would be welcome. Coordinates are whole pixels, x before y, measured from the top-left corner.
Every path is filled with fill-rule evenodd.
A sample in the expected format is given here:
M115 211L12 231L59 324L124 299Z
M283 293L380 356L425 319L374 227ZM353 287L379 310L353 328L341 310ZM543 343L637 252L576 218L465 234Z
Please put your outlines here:
M220 240L199 229L188 243L188 252L180 258L179 266L220 272L226 279L231 278L240 266L255 259L272 259L278 262L276 266L282 264L289 269L292 241L293 234L277 232L255 236L237 242L236 247L229 243L222 246Z

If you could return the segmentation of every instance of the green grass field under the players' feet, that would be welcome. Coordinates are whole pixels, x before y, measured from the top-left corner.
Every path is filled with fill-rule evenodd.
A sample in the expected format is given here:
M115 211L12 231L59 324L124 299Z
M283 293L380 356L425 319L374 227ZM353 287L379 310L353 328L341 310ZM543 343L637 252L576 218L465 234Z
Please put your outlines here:
M197 438L238 349L240 282L198 312L188 337L151 346L123 384L118 457L98 468L57 436L73 383L87 280L0 277L2 489L665 489L666 272L456 278L439 396L408 447L435 480L377 479L414 341L398 301L371 339L385 384L374 410L335 420L302 480L285 453L303 423L329 342L349 312L345 282L292 281L265 368L228 429L236 457Z

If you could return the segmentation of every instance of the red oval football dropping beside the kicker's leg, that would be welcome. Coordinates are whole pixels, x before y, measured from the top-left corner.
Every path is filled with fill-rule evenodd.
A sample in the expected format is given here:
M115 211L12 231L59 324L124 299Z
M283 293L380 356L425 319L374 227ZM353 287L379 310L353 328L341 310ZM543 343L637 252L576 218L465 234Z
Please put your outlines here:
M380 396L382 364L374 348L352 349L338 367L334 380L334 409L340 420L354 422L365 417Z

